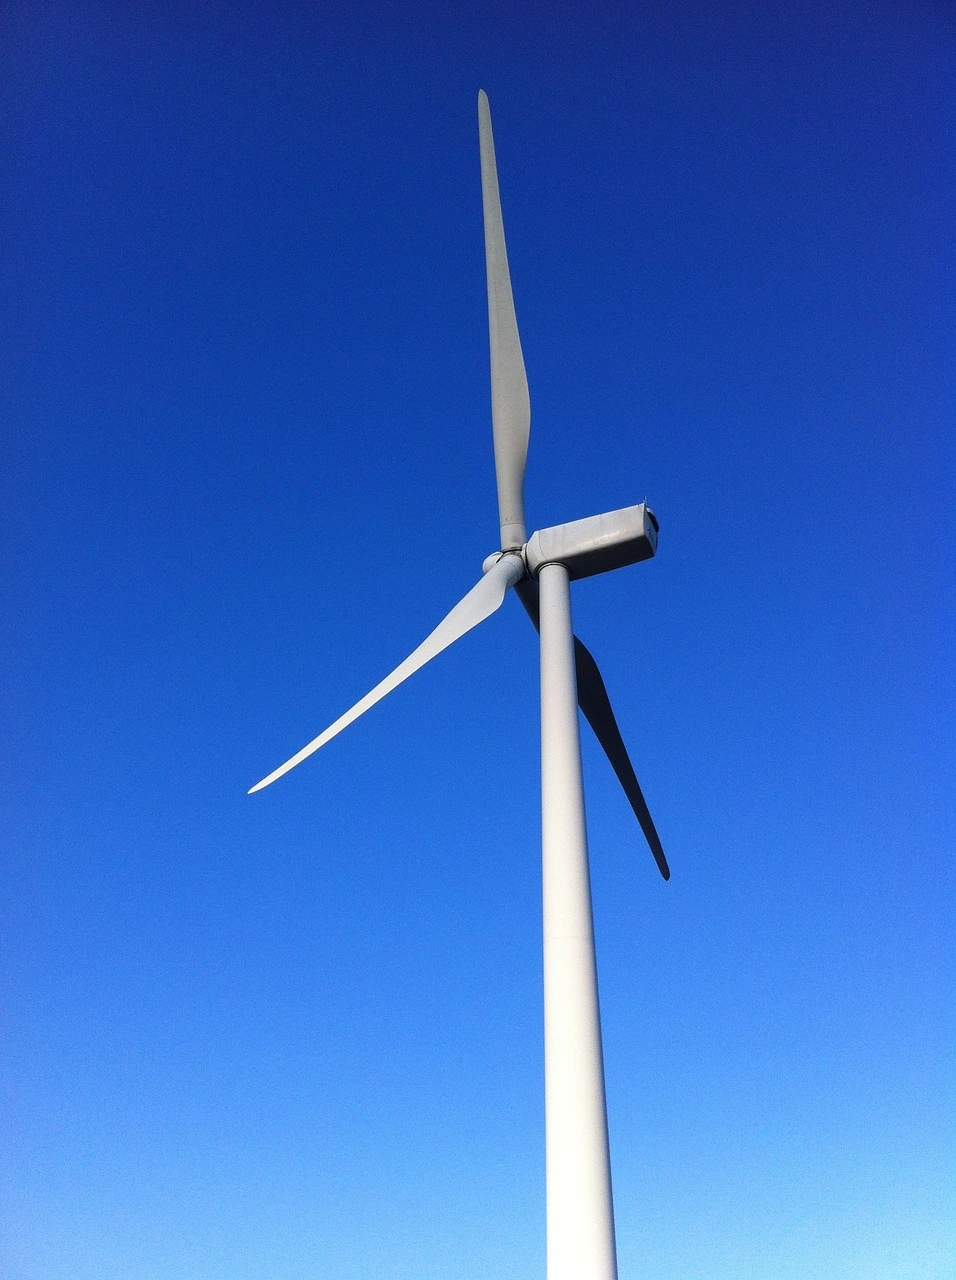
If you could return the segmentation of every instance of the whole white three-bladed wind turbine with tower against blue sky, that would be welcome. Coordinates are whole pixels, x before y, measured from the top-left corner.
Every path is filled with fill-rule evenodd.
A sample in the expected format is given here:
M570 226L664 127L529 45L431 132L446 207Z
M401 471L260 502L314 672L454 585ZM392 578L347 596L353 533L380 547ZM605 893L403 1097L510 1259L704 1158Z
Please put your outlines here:
M261 791L358 719L402 681L484 622L513 586L540 634L541 854L548 1280L616 1280L604 1060L587 869L578 707L625 788L660 874L664 850L644 801L598 664L571 626L571 581L649 559L658 522L645 503L526 536L531 406L504 244L491 114L479 93L491 425L500 550L481 581L392 675L257 782Z

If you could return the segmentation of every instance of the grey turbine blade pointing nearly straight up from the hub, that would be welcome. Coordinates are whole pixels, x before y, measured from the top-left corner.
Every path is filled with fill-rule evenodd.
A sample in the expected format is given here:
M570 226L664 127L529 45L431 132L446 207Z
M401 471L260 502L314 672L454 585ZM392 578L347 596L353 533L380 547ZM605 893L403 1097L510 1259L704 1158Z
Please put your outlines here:
M491 428L498 477L498 516L502 550L525 545L525 462L531 429L531 402L521 355L508 251L504 247L502 201L494 160L488 95L479 92L481 147L481 206L485 214L485 270L488 273L488 335L491 348Z

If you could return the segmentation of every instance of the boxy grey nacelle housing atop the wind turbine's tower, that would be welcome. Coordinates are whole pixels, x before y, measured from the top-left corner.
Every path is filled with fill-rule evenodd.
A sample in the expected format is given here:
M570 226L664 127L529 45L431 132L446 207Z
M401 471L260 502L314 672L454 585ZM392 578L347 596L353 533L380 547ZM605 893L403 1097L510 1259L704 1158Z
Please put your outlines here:
M591 577L612 568L650 559L658 549L658 521L646 503L622 507L603 516L572 520L539 529L523 548L529 572L536 577L544 564L563 564L568 577Z

